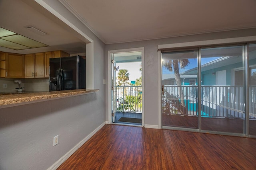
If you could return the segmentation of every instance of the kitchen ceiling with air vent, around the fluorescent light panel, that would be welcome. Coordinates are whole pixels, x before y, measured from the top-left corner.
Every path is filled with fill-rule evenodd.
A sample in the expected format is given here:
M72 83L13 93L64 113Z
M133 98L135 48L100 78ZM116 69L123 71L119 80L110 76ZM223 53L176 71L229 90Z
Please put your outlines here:
M0 51L20 54L55 50L70 54L85 53L85 43L75 31L72 32L68 25L33 0L0 0L0 21L0 27L48 45L25 50L0 47ZM47 35L38 35L26 29L27 26L34 26Z

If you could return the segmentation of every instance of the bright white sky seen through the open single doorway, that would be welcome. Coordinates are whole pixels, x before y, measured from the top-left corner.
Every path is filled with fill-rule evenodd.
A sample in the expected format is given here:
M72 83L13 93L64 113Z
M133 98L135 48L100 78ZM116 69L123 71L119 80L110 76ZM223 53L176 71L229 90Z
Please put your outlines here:
M116 71L116 77L118 76L118 72L121 69L126 69L130 73L129 81L135 81L136 78L140 78L141 76L141 62L132 62L132 63L116 63L116 67L119 66L118 71Z

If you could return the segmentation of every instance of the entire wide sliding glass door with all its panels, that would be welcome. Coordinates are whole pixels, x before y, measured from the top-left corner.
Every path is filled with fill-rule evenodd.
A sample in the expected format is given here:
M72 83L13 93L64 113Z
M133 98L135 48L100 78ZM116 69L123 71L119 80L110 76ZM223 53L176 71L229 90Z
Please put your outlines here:
M162 52L162 127L256 137L256 44Z

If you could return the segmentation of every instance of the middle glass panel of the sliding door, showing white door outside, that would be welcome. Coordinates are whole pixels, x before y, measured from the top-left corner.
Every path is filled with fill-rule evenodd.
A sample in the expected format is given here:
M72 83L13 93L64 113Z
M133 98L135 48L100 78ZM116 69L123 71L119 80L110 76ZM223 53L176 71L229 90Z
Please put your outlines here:
M244 46L201 51L202 130L244 133Z

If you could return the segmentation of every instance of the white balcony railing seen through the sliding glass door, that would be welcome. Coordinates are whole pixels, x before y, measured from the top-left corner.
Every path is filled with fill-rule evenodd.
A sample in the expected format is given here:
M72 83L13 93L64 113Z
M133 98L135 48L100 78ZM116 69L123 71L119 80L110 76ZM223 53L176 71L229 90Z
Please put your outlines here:
M249 88L249 101L250 119L255 119L256 86ZM163 113L198 115L197 106L198 86L164 85ZM201 106L202 116L245 118L244 86L201 86Z

